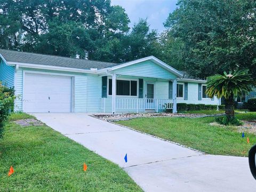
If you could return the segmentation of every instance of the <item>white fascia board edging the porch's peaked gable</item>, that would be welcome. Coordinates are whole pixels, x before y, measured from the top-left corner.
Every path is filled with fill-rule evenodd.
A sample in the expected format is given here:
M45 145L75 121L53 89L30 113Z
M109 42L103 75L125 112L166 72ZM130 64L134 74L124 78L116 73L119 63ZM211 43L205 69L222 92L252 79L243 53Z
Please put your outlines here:
M183 74L180 73L180 71L178 71L178 70L174 69L173 67L167 65L165 62L157 59L154 56L149 56L149 57L146 57L146 58L137 59L135 61L126 62L126 63L123 63L121 65L118 65L118 66L115 66L115 67L111 67L111 70L120 69L120 68L127 67L127 66L130 66L130 65L134 65L136 63L147 61L147 60L153 61L157 65L162 66L163 68L165 68L166 70L170 71L171 73L177 75L178 77L183 77Z

